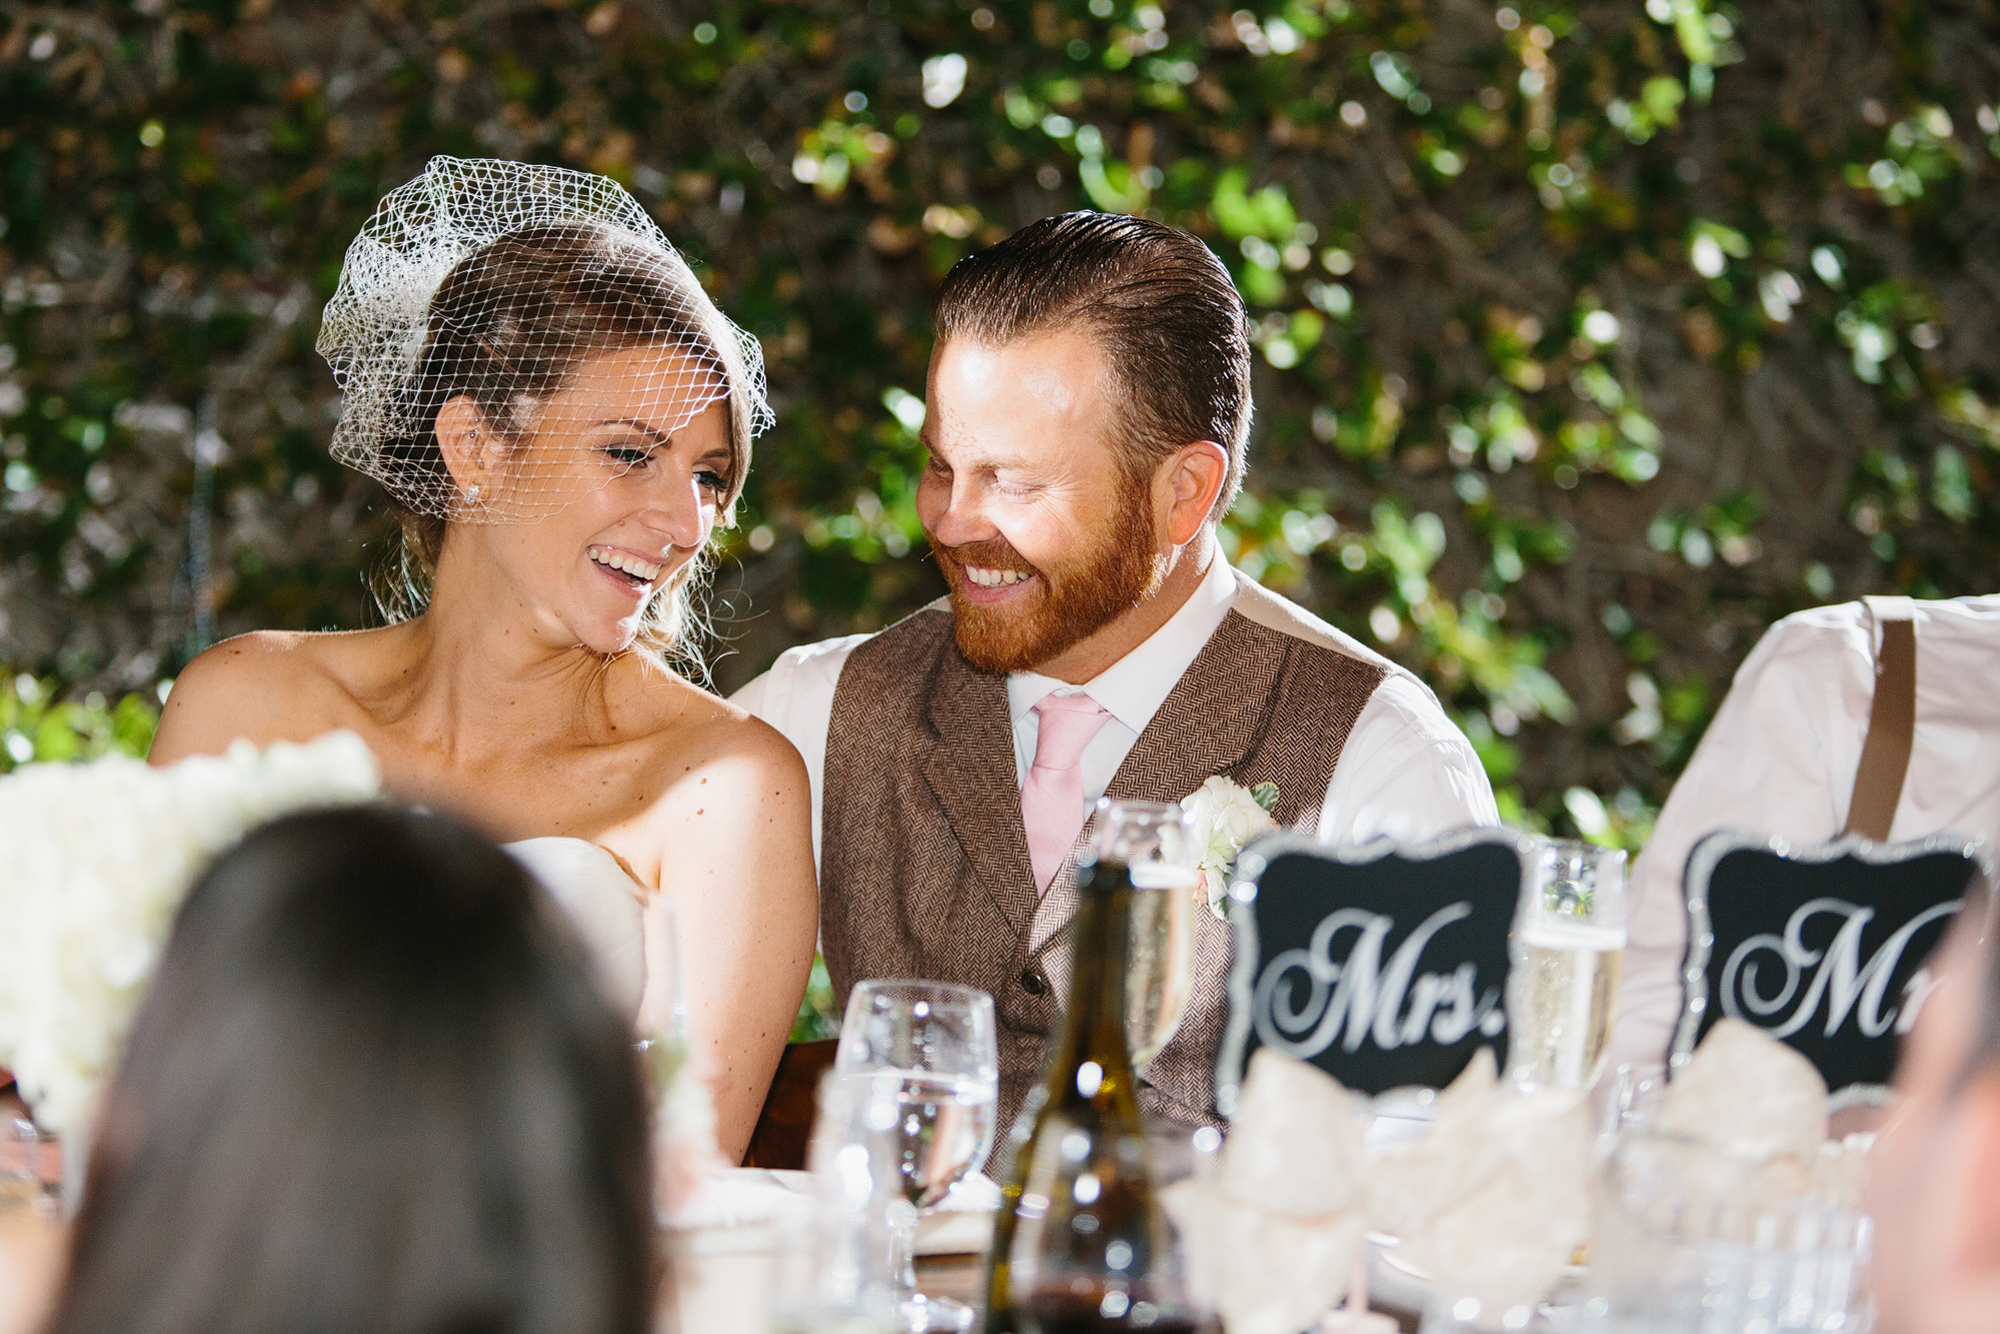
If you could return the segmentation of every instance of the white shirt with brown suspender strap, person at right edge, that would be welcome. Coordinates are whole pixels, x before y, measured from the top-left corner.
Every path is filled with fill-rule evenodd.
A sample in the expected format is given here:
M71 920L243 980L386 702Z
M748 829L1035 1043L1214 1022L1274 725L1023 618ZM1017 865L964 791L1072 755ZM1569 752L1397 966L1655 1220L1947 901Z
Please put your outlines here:
M2000 846L2000 596L1916 602L1916 736L1890 842ZM1680 878L1712 830L1838 838L1874 702L1880 626L1860 602L1774 624L1744 658L1660 824L1632 866L1630 942L1612 1060L1662 1060L1688 942Z

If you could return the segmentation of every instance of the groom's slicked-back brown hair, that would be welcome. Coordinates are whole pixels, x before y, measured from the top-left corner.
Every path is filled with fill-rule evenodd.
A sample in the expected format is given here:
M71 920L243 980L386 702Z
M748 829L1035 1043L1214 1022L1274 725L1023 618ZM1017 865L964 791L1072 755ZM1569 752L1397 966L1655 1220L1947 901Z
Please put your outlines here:
M1128 478L1150 478L1194 440L1228 450L1210 512L1222 518L1242 488L1252 410L1250 322L1222 260L1162 222L1074 212L960 260L938 294L940 348L1058 330L1084 332L1104 350Z

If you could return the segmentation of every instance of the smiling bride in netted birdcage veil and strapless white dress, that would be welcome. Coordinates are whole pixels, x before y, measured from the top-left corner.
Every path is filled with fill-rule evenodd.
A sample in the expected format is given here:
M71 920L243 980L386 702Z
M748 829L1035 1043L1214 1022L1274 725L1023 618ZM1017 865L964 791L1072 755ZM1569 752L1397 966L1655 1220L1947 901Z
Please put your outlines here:
M210 648L152 762L350 728L398 798L524 840L638 1026L684 1004L740 1158L812 962L806 770L670 662L770 416L756 342L614 182L436 158L320 352L334 454L402 518L390 624Z

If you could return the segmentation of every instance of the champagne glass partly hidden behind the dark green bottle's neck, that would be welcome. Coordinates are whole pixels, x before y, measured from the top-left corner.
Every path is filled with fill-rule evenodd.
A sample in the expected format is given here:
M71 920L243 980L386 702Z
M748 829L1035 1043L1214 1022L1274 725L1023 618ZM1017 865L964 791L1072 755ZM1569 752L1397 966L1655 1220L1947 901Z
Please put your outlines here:
M1160 1054L1194 994L1194 914L1202 884L1200 848L1188 814L1172 802L1098 802L1102 828L1116 828L1104 852L1132 870L1132 954L1126 962L1126 1046L1132 1072Z

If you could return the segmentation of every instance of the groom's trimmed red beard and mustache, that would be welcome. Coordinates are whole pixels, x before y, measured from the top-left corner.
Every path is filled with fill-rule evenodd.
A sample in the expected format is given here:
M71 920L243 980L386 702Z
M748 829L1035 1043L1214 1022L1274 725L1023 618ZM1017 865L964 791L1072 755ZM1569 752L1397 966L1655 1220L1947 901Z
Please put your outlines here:
M1060 566L1036 566L1012 542L930 544L952 588L958 652L980 672L1028 672L1082 644L1160 588L1166 560L1154 544L1146 488L1120 488L1102 544ZM978 606L964 596L966 566L1020 570L1038 584L1016 606Z

